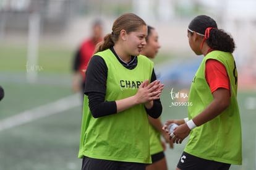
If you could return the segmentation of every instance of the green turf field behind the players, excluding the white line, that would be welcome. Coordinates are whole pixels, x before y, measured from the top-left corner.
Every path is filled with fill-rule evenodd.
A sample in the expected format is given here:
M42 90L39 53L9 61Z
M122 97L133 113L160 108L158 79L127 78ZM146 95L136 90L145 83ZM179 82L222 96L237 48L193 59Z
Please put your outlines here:
M0 45L0 51L0 85L4 87L6 93L4 100L0 102L0 169L80 169L81 160L77 158L77 152L81 106L70 106L69 109L56 114L1 130L1 121L8 117L74 94L70 90L72 50L41 48L38 66L42 66L43 70L38 72L38 82L32 84L25 79L27 60L25 49ZM156 63L164 61L166 61L165 57L160 57ZM164 107L163 122L167 119L181 119L187 116L186 107L169 107L171 88L179 90L181 87L165 85L161 95ZM80 102L79 97L77 96L77 102ZM242 120L243 165L231 166L232 170L255 169L256 114L255 108L247 109L249 97L256 98L256 91L240 90L238 93ZM74 101L70 101L72 102ZM48 110L46 109L45 112ZM17 120L14 119L12 123L14 124L15 121ZM175 145L173 150L169 148L166 150L169 169L176 167L185 145L186 140L181 145Z

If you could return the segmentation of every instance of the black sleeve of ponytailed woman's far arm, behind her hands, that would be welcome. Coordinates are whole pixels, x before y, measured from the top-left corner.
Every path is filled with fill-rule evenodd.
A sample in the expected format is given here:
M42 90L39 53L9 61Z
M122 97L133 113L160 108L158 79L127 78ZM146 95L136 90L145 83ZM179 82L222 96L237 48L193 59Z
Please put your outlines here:
M150 82L153 82L155 80L156 80L156 74L155 74L155 70L153 70ZM157 119L161 115L161 113L163 111L163 106L161 104L160 99L158 99L158 100L154 100L153 101L153 107L151 109L147 109L147 108L145 108L145 109L146 109L147 114L149 116Z

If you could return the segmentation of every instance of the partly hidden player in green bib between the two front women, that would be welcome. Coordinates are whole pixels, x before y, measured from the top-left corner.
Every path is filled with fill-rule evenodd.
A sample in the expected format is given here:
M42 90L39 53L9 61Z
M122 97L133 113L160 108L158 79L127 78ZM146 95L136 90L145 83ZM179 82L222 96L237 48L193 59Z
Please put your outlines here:
M158 41L158 32L155 28L148 26L148 36L146 38L147 45L142 50L142 55L147 56L150 59L155 58L160 48ZM169 135L162 129L163 124L161 119L153 119L148 116L150 122L150 154L152 164L147 166L147 170L166 170L168 169L166 158L164 156L164 150L166 148L165 142L169 143L169 147L173 148L173 142L169 139ZM161 140L163 136L165 142Z

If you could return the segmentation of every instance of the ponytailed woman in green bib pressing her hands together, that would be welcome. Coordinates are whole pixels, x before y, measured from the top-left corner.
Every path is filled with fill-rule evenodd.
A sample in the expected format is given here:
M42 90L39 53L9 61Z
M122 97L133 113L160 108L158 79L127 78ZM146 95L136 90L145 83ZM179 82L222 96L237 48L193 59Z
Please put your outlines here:
M85 80L79 158L82 170L145 169L151 163L148 115L161 115L163 84L140 55L147 25L126 13L90 59Z

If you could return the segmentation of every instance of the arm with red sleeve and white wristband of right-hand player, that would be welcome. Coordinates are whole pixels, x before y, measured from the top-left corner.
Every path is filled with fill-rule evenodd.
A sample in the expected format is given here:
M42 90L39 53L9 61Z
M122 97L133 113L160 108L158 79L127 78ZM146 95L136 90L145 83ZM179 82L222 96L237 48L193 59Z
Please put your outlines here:
M205 124L220 115L229 106L229 78L224 65L213 59L206 62L205 78L211 89L213 101L200 114L186 124L182 124L174 132L173 141L181 143L190 133L190 129Z

